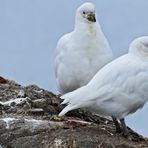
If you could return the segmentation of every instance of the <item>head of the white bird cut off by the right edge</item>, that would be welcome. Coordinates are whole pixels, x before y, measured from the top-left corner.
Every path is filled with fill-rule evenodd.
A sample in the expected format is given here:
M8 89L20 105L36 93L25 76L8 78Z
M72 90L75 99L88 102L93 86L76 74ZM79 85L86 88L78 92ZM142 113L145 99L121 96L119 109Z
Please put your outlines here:
M148 57L148 36L136 38L130 44L129 52L143 57Z

